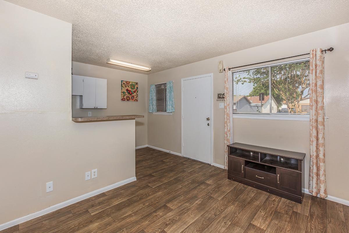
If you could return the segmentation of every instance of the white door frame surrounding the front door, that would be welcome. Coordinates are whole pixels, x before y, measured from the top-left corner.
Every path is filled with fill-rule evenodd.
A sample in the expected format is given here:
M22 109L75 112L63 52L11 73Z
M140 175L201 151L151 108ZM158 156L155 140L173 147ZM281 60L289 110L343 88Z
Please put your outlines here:
M213 165L213 73L209 74L202 74L202 75L196 75L188 78L181 79L181 86L180 86L180 94L181 94L181 154L183 157L183 81L190 80L190 79L200 79L200 78L206 78L210 77L211 81L211 116L210 116L210 124L211 124L211 162L210 165Z

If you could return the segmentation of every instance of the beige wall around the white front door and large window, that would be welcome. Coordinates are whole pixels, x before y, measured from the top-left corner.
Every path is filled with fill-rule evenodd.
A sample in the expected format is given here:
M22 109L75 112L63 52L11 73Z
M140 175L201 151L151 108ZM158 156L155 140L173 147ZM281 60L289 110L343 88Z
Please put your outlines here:
M148 86L173 80L176 111L172 116L148 114L148 144L181 152L180 80L213 73L214 98L224 92L224 66L240 66L308 52L312 48L334 47L325 55L326 94L326 174L328 194L349 200L349 23L309 34L261 45L196 63L148 75ZM234 141L284 150L306 152L306 179L309 166L309 122L265 119L233 120ZM214 162L224 164L224 109L214 99Z

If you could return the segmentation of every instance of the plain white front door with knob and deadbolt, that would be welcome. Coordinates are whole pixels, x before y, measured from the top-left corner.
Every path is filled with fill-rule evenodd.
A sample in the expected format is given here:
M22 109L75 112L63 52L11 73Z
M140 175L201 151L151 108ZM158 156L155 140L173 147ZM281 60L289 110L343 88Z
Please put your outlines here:
M213 74L182 79L182 155L211 164Z

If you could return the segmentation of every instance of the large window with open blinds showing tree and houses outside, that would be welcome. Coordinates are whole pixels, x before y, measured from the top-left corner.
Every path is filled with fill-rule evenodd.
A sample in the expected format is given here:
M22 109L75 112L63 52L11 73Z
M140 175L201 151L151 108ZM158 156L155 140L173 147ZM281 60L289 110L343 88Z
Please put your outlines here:
M309 59L232 71L233 113L309 115Z

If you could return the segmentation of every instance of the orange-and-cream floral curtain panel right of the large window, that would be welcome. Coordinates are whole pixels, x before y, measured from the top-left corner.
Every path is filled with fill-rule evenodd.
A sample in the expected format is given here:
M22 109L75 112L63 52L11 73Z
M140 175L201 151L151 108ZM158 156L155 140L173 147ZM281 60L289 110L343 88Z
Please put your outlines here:
M327 197L325 177L324 56L310 50L310 169L309 192Z

